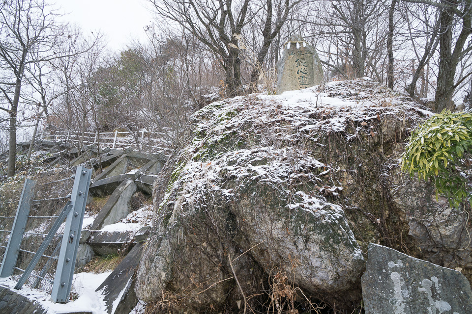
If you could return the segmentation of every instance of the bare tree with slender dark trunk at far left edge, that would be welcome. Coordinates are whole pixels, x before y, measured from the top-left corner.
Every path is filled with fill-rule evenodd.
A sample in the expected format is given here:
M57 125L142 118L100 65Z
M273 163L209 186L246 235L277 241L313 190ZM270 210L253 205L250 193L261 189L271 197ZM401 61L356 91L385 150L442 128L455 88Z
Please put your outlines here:
M15 174L17 113L25 71L32 64L45 62L57 54L54 48L62 32L54 23L55 15L42 0L0 3L0 109L9 117L7 176Z

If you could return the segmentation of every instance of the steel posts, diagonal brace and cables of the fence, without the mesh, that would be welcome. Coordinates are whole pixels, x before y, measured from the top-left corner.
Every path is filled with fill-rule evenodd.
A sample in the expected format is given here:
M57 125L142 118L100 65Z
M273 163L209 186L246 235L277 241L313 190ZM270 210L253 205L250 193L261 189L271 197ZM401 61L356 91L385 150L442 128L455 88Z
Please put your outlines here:
M74 275L74 268L77 259L77 251L79 248L80 233L82 230L82 223L84 220L85 208L87 203L87 197L89 194L89 185L92 171L83 166L77 168L75 176L67 178L67 180L74 179L70 200L60 210L58 215L49 216L38 216L29 215L31 206L36 202L51 201L56 199L64 199L66 197L57 198L43 198L33 199L34 189L36 182L33 180L26 179L23 186L23 191L18 202L18 209L14 217L14 222L11 231L2 230L2 232L9 233L8 244L5 248L5 253L0 267L0 277L12 276L14 271L19 271L21 277L15 286L15 289L20 289L27 282L30 277L34 277L34 280L30 281L31 288L38 288L41 282L47 282L52 284L51 290L51 301L56 303L66 303L69 299L70 290L72 287L72 279ZM57 180L56 182L62 182L66 179ZM50 182L53 183L53 182ZM47 184L47 183L46 183ZM4 219L12 219L13 217L4 216ZM47 234L26 231L28 219L40 218L40 219L54 219L54 223L49 228ZM63 222L65 219L65 227ZM60 233L61 227L63 227L62 234ZM44 238L37 250L22 248L22 241L29 236L40 236ZM59 241L53 243L53 239ZM46 250L50 245L53 245L49 249L49 254L46 254ZM60 250L60 251L59 251ZM57 255L59 251L59 255ZM25 269L21 268L19 263L19 255L26 253L27 255L33 255ZM41 259L47 259L46 262L39 264L40 270L35 271L35 267ZM49 270L53 266L54 262L57 261L56 272L54 280L49 275ZM48 275L48 276L47 276Z

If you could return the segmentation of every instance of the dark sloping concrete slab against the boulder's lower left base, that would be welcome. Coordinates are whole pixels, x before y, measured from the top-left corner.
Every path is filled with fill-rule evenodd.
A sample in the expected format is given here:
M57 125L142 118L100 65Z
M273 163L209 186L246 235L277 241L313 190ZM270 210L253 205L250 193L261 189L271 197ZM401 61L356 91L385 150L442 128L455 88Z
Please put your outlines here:
M128 314L138 303L134 284L136 269L143 254L143 244L144 242L136 244L110 276L96 289L96 291L101 290L105 295L104 301L109 314ZM118 304L114 306L116 302Z

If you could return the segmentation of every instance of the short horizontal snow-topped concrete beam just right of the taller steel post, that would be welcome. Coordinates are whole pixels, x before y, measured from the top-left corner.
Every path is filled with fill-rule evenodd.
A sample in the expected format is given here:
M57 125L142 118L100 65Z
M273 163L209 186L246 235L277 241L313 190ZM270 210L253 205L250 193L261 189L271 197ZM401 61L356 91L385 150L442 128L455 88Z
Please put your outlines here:
M97 255L114 255L118 254L118 250L121 250L126 244L131 243L133 238L133 231L95 231L90 235L87 244L92 247L93 252Z

